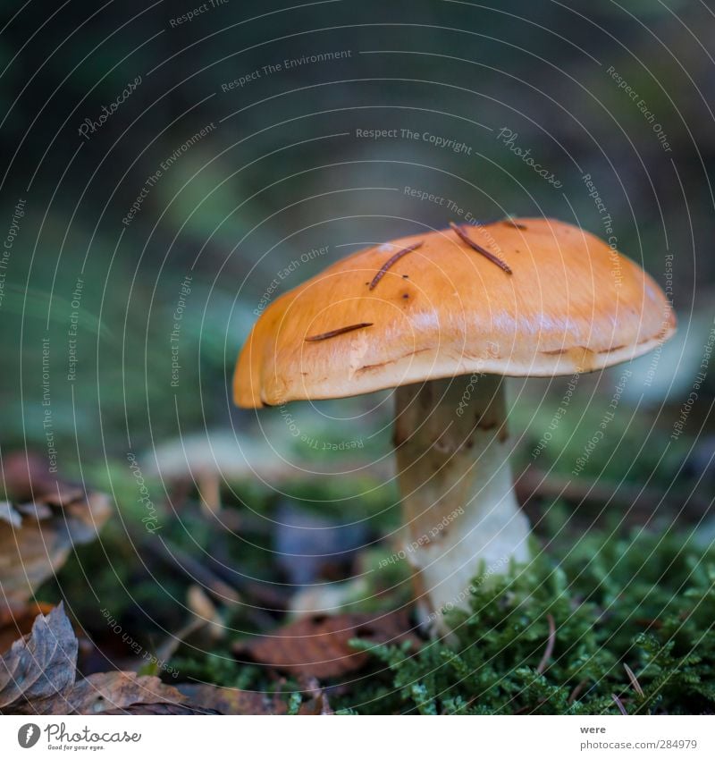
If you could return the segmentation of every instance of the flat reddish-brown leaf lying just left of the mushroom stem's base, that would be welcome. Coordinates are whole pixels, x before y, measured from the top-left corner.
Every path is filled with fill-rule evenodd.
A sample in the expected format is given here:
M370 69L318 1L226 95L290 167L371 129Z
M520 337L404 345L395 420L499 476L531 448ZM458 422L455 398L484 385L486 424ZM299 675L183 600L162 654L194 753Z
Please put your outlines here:
M411 640L406 613L395 611L382 616L338 614L292 622L273 633L239 644L234 652L294 675L319 679L338 677L359 670L368 654L350 648L353 638L372 643L400 643Z

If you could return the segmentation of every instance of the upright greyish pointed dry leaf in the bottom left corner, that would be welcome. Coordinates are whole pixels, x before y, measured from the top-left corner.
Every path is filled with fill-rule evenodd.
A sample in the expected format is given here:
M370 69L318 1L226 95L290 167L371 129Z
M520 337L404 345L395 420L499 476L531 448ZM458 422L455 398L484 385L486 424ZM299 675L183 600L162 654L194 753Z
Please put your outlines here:
M63 696L74 683L76 662L77 638L61 603L40 614L29 637L0 658L0 711Z

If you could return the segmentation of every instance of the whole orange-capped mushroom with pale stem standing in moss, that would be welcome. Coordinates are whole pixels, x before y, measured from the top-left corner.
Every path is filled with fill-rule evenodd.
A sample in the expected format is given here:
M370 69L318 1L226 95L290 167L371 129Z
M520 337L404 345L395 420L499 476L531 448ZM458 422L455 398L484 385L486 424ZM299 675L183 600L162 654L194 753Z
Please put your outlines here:
M652 278L576 226L452 224L360 250L276 299L240 353L234 399L259 409L395 389L402 551L443 630L475 576L529 558L504 377L610 367L675 325Z

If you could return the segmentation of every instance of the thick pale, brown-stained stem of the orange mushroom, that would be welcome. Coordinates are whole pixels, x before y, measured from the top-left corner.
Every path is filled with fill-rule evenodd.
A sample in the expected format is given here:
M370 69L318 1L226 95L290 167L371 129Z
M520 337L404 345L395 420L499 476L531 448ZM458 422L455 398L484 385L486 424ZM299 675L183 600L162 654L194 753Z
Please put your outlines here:
M402 548L423 621L467 609L469 588L528 560L529 524L509 468L504 383L472 375L396 391Z

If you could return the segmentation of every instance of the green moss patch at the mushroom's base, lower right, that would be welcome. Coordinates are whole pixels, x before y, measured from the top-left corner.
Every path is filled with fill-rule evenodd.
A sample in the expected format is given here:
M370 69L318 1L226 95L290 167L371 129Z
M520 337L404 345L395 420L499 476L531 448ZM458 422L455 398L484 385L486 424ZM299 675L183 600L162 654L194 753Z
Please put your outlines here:
M477 586L449 641L372 646L357 713L710 713L715 552L682 535L587 537ZM543 663L555 626L553 652ZM542 666L540 666L542 665ZM627 667L634 673L635 683Z

